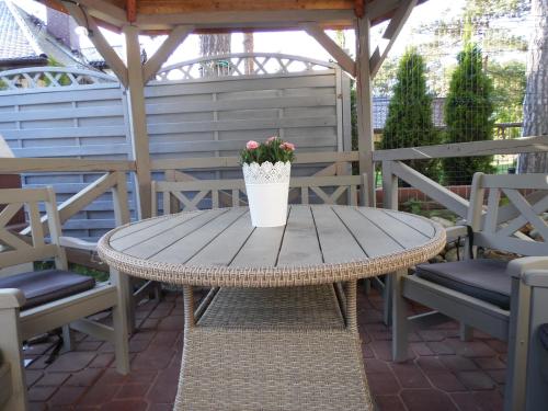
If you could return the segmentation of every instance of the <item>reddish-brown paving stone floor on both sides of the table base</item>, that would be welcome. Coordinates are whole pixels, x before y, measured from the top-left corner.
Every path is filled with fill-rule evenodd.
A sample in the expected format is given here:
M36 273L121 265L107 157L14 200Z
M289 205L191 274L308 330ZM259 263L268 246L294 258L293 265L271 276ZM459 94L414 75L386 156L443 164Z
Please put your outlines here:
M380 410L501 410L506 344L476 333L458 339L456 323L413 334L414 359L390 362L390 329L381 322L381 299L358 290L358 322L369 386ZM130 340L132 374L113 368L110 343L78 335L76 350L52 365L52 344L33 345L26 356L32 410L171 410L183 346L183 305L168 293L159 305L139 307L140 330Z

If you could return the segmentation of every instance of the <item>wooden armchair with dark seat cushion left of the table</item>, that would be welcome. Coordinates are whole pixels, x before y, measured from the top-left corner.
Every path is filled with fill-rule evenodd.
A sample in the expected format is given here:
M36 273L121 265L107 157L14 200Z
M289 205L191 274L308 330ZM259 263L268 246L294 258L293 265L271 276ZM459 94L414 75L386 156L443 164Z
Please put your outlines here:
M47 225L41 221L38 204L44 203ZM55 260L55 270L30 272L0 278L0 351L11 367L11 396L7 410L27 408L23 341L34 335L62 328L65 346L70 349L70 329L114 344L116 368L129 372L128 324L126 318L127 278L111 271L109 282L95 284L91 277L68 272L65 248L91 249L93 244L60 237L60 222L55 193L47 189L0 190L0 269L24 262ZM26 206L32 242L8 231L7 224L21 207ZM46 232L49 232L49 241ZM113 327L87 317L113 310ZM9 390L0 387L0 390ZM1 396L0 396L1 397Z

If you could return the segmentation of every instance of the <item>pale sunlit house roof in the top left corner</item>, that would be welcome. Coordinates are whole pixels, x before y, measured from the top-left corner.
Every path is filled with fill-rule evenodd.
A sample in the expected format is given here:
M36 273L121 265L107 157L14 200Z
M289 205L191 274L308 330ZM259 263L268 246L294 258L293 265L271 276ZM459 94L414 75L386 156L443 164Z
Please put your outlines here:
M0 67L44 66L49 58L61 66L85 67L47 32L43 21L9 0L0 0Z

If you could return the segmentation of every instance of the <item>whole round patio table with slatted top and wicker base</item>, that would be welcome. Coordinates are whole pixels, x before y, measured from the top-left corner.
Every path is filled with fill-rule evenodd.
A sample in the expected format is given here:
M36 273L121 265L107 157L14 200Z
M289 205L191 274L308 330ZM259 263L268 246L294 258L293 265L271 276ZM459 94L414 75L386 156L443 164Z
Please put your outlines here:
M356 281L444 244L444 228L415 215L299 205L275 228L252 227L243 207L147 219L98 250L113 269L184 286L175 409L367 410ZM192 286L213 287L196 310Z

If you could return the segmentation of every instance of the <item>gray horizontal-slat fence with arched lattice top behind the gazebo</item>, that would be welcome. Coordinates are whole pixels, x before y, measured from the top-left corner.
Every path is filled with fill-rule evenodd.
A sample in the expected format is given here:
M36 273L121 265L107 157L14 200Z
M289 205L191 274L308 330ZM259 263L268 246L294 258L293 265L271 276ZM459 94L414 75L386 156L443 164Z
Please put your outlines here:
M251 72L246 61L252 61ZM299 152L351 149L350 80L330 62L269 54L196 59L162 68L145 95L156 159L233 156L249 139L274 134L294 141ZM59 67L0 72L0 135L16 157L130 159L126 117L125 91L103 73ZM296 174L318 169L308 165ZM239 171L195 175L236 178ZM64 201L96 178L25 174L23 184L53 184ZM129 191L134 209L133 182ZM104 195L65 230L96 239L113 226L112 201Z

